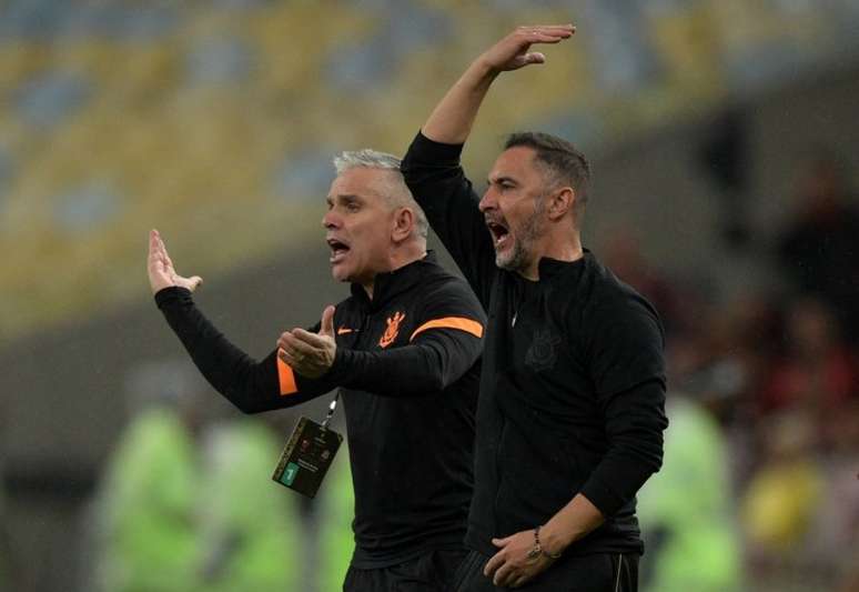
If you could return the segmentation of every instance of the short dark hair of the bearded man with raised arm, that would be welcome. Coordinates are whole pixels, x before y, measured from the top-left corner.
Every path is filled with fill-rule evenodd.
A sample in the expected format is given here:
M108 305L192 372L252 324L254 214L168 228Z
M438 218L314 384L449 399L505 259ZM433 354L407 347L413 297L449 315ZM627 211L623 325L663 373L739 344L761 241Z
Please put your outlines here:
M587 203L590 185L590 163L570 142L538 131L511 133L504 149L524 146L534 150L534 158L544 165L557 183L569 184L576 192L576 211Z

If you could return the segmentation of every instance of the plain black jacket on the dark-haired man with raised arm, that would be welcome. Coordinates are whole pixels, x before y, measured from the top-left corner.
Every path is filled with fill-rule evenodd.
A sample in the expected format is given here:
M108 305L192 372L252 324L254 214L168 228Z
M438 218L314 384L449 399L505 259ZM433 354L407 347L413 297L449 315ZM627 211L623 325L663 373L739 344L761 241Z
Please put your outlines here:
M585 250L539 280L498 269L462 144L418 133L403 174L488 312L466 544L545 524L582 493L605 523L567 555L640 552L635 494L663 461L664 333L656 311Z

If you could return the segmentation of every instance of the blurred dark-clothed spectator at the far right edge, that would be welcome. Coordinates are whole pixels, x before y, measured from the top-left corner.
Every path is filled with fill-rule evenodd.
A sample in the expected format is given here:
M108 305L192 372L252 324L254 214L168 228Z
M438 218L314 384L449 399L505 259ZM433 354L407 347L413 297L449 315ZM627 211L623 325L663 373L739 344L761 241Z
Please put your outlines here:
M799 209L778 237L781 270L804 294L830 303L859 341L859 209L835 159L821 154L799 180Z

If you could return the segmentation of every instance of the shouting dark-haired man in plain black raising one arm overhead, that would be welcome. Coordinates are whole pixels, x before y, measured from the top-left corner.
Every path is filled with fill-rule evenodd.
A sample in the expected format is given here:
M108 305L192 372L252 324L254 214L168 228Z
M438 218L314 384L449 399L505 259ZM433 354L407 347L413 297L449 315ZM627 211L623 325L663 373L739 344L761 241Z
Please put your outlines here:
M403 161L489 317L459 592L637 589L635 494L661 464L667 427L659 319L582 247L590 171L569 142L512 136L483 198L459 165L493 80L573 33L521 27L489 48Z

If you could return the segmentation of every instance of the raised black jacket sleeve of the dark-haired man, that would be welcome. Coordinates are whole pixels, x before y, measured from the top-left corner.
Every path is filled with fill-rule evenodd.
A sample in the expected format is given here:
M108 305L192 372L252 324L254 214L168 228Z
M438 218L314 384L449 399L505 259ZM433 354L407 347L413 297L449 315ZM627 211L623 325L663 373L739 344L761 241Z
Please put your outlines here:
M479 202L459 164L463 144L435 142L418 132L402 163L403 177L465 279L485 308L497 273Z

